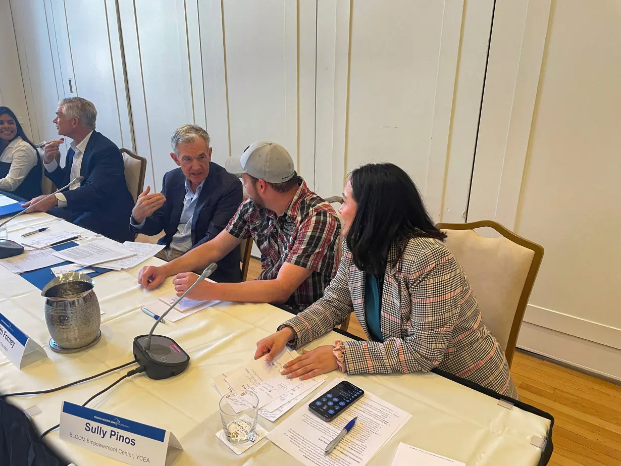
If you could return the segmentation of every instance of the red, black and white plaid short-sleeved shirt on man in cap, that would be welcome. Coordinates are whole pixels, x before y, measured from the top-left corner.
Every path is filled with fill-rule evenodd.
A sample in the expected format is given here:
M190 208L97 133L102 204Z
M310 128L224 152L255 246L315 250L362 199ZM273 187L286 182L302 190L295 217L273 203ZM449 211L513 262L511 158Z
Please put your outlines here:
M312 270L285 303L302 311L324 296L336 273L337 242L341 224L329 203L299 178L300 187L283 215L258 208L247 198L230 220L226 231L239 239L252 236L261 250L257 280L273 280L284 263Z

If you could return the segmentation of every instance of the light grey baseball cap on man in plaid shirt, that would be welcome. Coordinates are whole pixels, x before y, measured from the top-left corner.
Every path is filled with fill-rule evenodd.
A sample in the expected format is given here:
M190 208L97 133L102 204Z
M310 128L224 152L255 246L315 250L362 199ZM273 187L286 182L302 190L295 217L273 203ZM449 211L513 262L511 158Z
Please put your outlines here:
M225 163L229 173L240 176L248 173L268 183L284 183L296 171L286 148L275 142L258 141L250 144L241 157L229 157Z

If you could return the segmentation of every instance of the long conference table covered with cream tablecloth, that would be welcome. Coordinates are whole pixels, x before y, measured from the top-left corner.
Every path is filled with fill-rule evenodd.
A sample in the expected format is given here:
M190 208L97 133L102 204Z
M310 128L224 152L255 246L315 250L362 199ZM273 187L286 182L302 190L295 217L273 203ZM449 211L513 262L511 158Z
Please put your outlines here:
M9 234L48 226L51 231L78 232L83 235L80 243L101 239L93 232L43 213L24 215L8 226ZM160 263L161 260L150 258L142 265ZM153 319L140 311L138 301L173 292L171 278L156 291L143 290L136 280L142 265L94 278L97 298L104 311L101 316L102 338L91 349L75 354L58 354L50 349L50 334L43 313L44 298L40 291L20 275L0 267L1 312L42 345L47 353L47 359L31 363L22 370L0 354L0 392L53 388L134 359L134 337L148 333L153 325ZM144 374L135 375L88 406L173 432L184 450L167 464L299 464L268 439L261 440L242 455L235 455L215 437L221 424L220 395L214 385L214 376L249 362L256 341L274 332L290 317L291 314L269 304L220 303L178 322L160 324L157 333L172 337L190 355L188 370L167 380L150 380ZM336 338L344 337L331 332L309 344L309 348L332 344ZM37 406L42 412L32 417L32 423L42 432L58 423L64 400L81 404L124 375L129 368L55 393L8 400L22 410ZM339 375L330 373L327 382ZM542 459L545 456L543 450L532 445L531 441L533 436L543 439L549 436L551 420L522 409L524 406L507 409L499 405L496 397L437 373L347 377L355 385L412 414L410 421L371 460L371 465L390 464L399 442L467 465L532 466L546 462ZM263 418L259 418L259 423L270 431L295 409L319 395L326 385L320 386L276 423ZM122 464L62 441L58 429L46 439L53 450L78 466Z

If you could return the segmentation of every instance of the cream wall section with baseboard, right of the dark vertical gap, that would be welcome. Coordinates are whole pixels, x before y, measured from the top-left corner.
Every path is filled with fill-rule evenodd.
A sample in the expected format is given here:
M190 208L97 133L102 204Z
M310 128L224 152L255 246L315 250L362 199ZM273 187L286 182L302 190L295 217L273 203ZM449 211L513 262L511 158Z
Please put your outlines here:
M518 345L621 380L619 2L497 2L468 221L545 248Z

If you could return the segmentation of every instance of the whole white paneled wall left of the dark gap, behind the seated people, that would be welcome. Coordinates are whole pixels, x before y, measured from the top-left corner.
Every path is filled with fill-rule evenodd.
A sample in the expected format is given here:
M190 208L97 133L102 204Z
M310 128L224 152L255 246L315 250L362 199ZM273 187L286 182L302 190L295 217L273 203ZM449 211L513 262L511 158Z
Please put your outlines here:
M34 130L58 98L91 99L98 129L148 159L156 190L189 122L220 164L255 140L283 144L322 196L361 163L394 162L435 219L463 221L493 0L11 4Z

